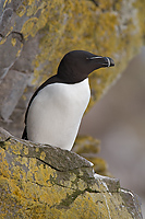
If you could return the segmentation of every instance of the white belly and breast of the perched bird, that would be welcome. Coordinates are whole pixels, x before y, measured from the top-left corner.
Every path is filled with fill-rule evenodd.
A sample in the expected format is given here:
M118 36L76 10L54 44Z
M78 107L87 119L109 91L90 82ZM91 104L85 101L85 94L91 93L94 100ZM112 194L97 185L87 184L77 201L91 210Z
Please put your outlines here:
M40 90L27 115L29 140L71 150L90 97L88 79L53 83Z

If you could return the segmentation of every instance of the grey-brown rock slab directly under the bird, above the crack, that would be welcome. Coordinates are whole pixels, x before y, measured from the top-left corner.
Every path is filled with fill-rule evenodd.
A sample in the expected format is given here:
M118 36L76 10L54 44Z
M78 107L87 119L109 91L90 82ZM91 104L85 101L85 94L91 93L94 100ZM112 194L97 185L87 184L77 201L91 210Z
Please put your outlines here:
M3 132L2 129L0 129L1 132ZM61 148L51 147L51 146L41 146L41 145L34 145L31 141L25 141L25 148L23 147L24 140L19 140L19 151L15 150L15 145L17 143L17 140L14 137L8 137L8 132L4 134L5 140L9 139L9 146L7 146L7 149L11 151L11 153L24 155L26 158L37 158L38 160L41 160L46 163L48 163L50 166L53 166L53 169L58 171L69 171L76 168L90 168L93 164L87 161L86 159L77 155L76 153L73 153L68 150L62 150ZM2 135L2 141L1 147L5 149L4 143L2 145L4 136ZM14 148L13 148L14 147Z

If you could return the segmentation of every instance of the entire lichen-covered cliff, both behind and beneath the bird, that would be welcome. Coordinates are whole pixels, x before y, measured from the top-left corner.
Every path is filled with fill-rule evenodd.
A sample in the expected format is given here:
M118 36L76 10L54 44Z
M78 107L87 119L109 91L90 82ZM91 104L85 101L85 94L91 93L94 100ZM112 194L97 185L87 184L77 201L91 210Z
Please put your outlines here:
M90 76L90 108L143 45L144 9L142 0L2 0L0 125L21 135L34 87L55 74L72 49L116 62ZM85 159L2 129L0 135L2 218L142 218L137 197L118 180L94 174Z

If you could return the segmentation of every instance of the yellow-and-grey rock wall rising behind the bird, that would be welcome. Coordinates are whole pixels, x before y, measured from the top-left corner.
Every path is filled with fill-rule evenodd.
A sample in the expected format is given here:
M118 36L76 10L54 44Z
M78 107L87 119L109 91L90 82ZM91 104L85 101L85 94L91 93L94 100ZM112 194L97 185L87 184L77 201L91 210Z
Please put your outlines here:
M90 76L89 106L96 103L143 45L144 9L143 0L0 1L0 82L5 88L2 100L15 100L11 106L0 104L1 126L21 135L23 114L34 92L32 85L56 73L60 59L72 49L114 59L117 68L100 69ZM10 74L17 77L11 70L27 78L32 74L35 80L24 81L22 77L23 88L20 90L15 83L17 90L10 94L7 81ZM17 125L8 123L9 118Z

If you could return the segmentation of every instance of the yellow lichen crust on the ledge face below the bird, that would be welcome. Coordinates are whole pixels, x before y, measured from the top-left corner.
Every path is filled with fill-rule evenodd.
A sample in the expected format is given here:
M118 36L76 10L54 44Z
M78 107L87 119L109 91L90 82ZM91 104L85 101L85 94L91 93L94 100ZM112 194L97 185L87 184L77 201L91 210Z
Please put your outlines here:
M16 148L16 146L19 148L19 143L11 148ZM128 208L121 207L123 199L119 193L107 193L107 186L101 181L99 188L99 181L89 185L90 189L96 192L99 189L99 193L85 191L87 183L71 172L70 180L59 181L57 184L52 178L56 180L59 172L47 164L38 164L36 158L16 155L13 157L13 164L11 164L11 152L4 149L0 149L0 152L2 158L0 187L4 192L0 197L2 218L8 216L12 218L13 212L16 218L95 219L96 217L108 218L108 216L121 218L122 215L125 218L132 218ZM5 152L9 153L9 163ZM81 174L80 170L81 175L83 176L83 171Z

